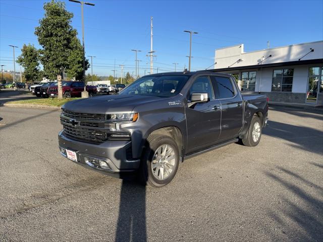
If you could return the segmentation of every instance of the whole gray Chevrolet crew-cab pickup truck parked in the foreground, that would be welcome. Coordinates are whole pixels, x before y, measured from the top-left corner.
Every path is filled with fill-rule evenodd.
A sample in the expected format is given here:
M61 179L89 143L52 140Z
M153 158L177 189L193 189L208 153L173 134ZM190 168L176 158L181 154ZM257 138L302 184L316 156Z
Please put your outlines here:
M66 103L59 148L78 164L161 187L189 157L239 141L256 146L267 111L265 95L242 95L230 75L154 74L119 95Z

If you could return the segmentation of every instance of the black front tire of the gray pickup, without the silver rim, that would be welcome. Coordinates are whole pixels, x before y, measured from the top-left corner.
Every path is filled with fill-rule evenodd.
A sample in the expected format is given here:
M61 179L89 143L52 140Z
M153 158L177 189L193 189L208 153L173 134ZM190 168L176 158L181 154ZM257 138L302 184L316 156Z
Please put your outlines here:
M158 147L162 145L168 145L173 148L175 153L174 169L166 179L159 180L153 175L152 160ZM141 156L140 168L139 168L139 180L143 185L149 185L150 187L159 188L169 184L176 175L180 162L179 150L175 141L165 135L151 135L146 142L145 150Z

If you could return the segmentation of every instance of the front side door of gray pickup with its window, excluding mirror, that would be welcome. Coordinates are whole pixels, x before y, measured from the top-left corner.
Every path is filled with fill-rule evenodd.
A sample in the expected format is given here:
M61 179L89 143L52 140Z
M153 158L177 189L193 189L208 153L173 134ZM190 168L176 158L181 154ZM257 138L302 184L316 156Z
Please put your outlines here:
M209 77L198 77L190 88L192 93L208 93L209 101L185 108L189 153L215 144L221 132L221 104L214 100Z

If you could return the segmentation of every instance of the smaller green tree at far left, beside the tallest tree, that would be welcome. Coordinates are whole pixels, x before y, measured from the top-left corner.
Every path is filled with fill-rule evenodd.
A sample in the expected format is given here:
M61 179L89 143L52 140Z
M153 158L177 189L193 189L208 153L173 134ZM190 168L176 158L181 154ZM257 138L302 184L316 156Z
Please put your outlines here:
M40 75L38 50L34 45L24 44L21 52L21 55L17 58L17 63L25 69L24 76L26 81L37 81Z

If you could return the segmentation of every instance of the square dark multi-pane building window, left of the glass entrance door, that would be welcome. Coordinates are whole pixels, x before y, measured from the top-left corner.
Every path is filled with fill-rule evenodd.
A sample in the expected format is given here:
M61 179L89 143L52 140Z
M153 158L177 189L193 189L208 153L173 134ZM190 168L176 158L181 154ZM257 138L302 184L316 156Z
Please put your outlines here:
M294 69L274 70L272 92L291 92Z

